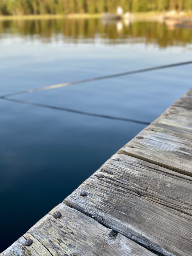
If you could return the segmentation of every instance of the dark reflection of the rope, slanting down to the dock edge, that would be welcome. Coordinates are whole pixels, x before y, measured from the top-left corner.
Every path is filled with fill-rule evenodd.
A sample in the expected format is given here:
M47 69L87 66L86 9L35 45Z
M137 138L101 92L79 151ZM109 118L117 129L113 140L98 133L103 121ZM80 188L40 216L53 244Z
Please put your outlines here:
M129 119L129 118L118 118L118 117L114 117L114 116L110 116L110 115L94 114L94 113L89 113L89 112L84 112L84 111L79 111L79 110L73 110L73 109L69 109L69 108L60 108L60 107L55 107L55 106L51 106L51 105L33 103L33 102L28 102L28 101L23 101L23 100L10 99L10 98L6 98L6 97L1 97L1 99L7 100L7 101L13 101L13 102L21 103L21 104L41 107L41 108L51 108L54 110L62 110L62 111L81 114L81 115L89 115L89 116L100 117L100 118L108 118L108 119L113 119L113 120L127 121L127 122L139 123L139 124L144 124L144 125L150 124L148 122L138 121L138 120Z

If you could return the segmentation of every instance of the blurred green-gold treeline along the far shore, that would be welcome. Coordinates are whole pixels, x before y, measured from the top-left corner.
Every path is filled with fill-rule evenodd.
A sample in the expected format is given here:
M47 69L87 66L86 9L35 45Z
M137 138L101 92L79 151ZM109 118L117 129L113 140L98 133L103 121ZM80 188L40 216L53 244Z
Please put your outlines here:
M1 15L192 10L192 0L0 0Z

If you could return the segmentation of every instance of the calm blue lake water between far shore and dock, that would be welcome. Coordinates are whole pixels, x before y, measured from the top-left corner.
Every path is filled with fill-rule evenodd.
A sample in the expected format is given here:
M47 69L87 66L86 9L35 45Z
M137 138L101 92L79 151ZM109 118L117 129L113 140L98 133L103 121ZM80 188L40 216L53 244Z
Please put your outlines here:
M191 60L192 29L163 23L0 22L0 96ZM190 87L187 65L0 99L0 251L146 126L115 118L150 123Z

